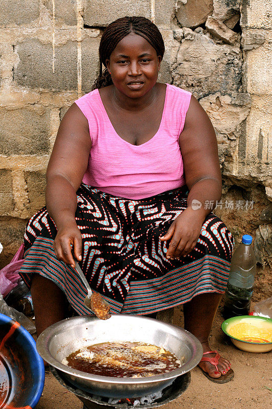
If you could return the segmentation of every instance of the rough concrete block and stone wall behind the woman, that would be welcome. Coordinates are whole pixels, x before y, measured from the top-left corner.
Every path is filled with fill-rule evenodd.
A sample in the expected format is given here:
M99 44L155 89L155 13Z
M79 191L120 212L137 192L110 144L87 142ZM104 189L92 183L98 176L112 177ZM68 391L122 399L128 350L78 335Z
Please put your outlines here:
M0 264L44 204L60 120L91 89L104 27L132 14L153 19L161 30L166 53L159 79L190 90L214 125L224 177L216 212L235 238L256 234L258 260L268 263L268 0L0 0Z

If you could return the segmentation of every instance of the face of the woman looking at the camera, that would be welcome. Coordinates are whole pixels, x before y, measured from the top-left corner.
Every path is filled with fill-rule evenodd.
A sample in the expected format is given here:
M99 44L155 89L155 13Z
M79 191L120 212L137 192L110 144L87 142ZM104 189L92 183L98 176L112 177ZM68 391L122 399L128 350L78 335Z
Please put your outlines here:
M156 50L135 33L119 41L106 60L113 84L130 98L142 97L156 84L160 63Z

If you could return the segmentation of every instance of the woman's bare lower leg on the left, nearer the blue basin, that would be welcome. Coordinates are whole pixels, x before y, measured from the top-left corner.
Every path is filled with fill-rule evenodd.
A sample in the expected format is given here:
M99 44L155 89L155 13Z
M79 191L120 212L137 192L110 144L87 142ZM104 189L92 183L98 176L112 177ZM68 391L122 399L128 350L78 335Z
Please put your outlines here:
M65 319L66 299L63 291L53 281L34 274L31 282L37 336Z

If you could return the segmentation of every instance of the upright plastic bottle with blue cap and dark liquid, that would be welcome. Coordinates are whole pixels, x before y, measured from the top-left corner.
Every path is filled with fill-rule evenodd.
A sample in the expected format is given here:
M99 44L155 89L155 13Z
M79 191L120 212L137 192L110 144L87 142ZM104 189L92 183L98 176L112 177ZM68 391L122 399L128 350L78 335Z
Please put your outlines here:
M223 316L248 315L256 274L252 236L245 234L232 255L231 270L225 293Z

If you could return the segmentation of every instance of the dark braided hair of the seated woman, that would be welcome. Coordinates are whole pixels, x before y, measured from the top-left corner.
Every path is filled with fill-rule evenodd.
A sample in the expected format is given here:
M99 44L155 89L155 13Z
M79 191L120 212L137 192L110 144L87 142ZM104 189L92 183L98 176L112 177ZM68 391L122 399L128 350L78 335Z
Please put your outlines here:
M110 58L118 42L130 33L145 38L156 50L157 55L163 58L164 42L162 35L152 21L145 17L118 18L109 24L101 37L99 46L100 73L94 81L92 90L112 84L111 75L106 67L106 60ZM106 67L104 70L102 64Z

